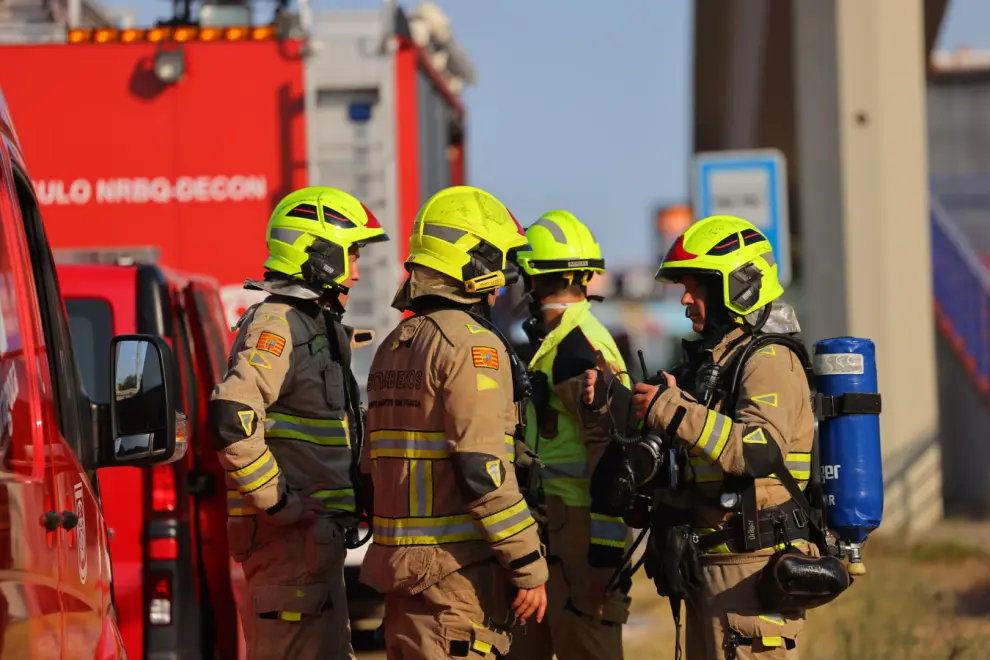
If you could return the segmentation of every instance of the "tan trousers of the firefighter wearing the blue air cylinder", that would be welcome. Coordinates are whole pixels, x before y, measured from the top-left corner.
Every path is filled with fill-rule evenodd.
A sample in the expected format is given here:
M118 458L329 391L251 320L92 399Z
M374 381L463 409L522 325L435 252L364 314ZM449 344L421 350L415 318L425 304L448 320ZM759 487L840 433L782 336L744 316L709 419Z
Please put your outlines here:
M686 660L797 660L804 612L767 612L756 576L768 555L708 555L705 586L686 603Z

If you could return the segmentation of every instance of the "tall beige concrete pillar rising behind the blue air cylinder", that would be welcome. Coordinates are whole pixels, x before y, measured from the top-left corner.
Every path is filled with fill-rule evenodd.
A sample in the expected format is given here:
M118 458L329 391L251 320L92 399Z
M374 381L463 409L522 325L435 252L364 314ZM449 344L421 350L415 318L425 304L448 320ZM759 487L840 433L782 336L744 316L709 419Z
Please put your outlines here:
M806 336L877 345L886 532L942 515L923 16L922 0L794 0Z

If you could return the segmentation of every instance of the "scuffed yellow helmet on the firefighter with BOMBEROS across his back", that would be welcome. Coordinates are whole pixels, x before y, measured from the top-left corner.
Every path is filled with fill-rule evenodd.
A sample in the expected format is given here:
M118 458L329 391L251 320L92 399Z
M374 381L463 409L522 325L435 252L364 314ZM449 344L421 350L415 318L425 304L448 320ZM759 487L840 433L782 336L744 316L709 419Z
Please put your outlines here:
M406 267L426 266L464 283L467 293L505 286L510 252L526 245L515 217L494 195L471 186L445 188L416 215Z

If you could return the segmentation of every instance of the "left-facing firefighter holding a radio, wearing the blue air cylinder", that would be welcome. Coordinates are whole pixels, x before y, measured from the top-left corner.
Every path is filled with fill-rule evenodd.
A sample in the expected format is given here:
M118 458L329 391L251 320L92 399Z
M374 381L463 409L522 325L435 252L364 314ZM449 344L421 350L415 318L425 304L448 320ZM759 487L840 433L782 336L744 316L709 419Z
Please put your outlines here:
M636 416L683 447L688 479L689 531L651 529L647 568L651 557L682 568L673 579L659 571L658 588L681 592L681 580L697 587L686 597L688 660L796 658L804 611L761 605L755 586L777 549L793 544L818 554L807 517L777 476L786 470L795 488L810 478L815 423L803 361L780 343L746 350L764 335L800 330L793 308L778 300L770 243L740 218L705 218L675 241L657 279L683 285L681 304L701 338L685 342L676 378L664 373L659 385L634 388ZM736 367L738 380L727 378ZM597 380L589 374L586 401ZM685 504L670 503L664 516Z

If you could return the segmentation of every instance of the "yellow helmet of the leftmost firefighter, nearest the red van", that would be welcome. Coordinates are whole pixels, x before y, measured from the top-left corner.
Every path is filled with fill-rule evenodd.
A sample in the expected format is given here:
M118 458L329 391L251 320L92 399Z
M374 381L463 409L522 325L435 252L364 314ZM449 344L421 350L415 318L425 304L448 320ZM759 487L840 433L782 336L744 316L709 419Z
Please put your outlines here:
M356 197L312 186L286 195L268 220L265 268L346 293L352 246L387 241L374 214Z

